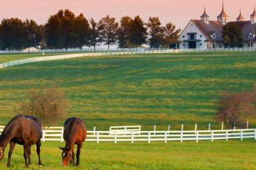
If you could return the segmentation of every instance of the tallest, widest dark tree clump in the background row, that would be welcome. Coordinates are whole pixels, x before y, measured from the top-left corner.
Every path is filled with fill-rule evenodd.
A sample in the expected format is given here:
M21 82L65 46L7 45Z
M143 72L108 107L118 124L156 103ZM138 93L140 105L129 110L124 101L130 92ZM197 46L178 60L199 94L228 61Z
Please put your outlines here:
M50 48L81 48L89 46L89 23L80 14L59 10L46 23L46 44Z

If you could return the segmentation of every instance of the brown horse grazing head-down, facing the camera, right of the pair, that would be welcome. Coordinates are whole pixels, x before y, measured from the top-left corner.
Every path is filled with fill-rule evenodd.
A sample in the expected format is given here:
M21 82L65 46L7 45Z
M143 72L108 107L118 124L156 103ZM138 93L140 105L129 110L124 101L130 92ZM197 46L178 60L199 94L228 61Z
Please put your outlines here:
M71 117L64 123L63 138L66 141L65 147L60 147L62 152L62 165L67 166L70 162L75 165L74 145L77 145L76 165L80 164L80 150L82 142L86 139L86 128L84 122L80 118Z

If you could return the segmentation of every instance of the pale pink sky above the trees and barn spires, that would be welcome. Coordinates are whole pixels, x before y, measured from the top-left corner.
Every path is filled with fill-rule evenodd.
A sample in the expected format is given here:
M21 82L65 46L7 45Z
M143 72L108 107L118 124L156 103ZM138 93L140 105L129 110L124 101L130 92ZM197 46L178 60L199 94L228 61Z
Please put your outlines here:
M174 23L183 29L190 19L200 19L204 5L210 20L216 20L222 8L222 0L2 0L0 20L18 17L34 19L38 24L47 22L50 15L57 10L68 8L76 15L82 13L87 19L99 20L106 15L118 21L122 16L139 15L147 22L150 16L158 16L162 24ZM250 20L256 0L225 0L225 11L230 21L236 20L240 7L242 15Z

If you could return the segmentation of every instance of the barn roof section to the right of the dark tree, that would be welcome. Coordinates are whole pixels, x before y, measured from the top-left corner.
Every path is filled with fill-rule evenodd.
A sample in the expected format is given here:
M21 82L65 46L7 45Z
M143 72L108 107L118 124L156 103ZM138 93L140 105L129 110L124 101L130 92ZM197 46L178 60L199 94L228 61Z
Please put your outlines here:
M243 41L256 41L256 36L254 39L249 39L250 32L256 32L256 24L251 24L250 21L243 21L243 22L228 22L227 24L236 23L238 27L242 29L242 37Z

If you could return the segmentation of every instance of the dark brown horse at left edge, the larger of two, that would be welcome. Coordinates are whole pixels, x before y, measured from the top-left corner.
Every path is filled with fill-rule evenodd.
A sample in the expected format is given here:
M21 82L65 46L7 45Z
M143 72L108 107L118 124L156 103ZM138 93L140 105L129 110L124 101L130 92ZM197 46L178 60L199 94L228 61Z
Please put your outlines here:
M3 129L0 135L0 161L5 155L5 148L10 142L7 166L10 167L11 154L13 154L16 143L23 145L25 165L31 164L31 145L36 143L36 152L38 153L39 165L42 164L40 159L40 146L42 138L42 126L37 117L34 116L16 116ZM28 159L28 163L27 163Z

